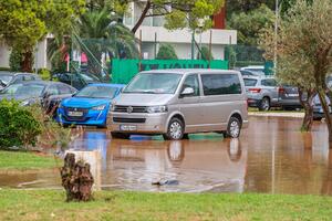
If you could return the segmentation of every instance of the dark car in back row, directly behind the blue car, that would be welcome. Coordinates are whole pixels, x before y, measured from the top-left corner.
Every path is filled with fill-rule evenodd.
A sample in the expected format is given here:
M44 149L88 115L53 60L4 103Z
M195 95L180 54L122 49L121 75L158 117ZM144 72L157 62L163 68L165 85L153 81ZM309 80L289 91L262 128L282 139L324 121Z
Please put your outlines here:
M87 84L101 83L102 81L87 73L55 73L52 75L52 80L56 78L59 82L69 84L76 90L82 90Z

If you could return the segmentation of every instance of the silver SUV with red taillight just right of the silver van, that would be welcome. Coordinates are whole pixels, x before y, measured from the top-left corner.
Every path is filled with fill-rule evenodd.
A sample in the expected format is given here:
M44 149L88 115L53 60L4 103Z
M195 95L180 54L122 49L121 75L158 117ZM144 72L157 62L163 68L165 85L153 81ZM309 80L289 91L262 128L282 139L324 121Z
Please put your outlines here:
M248 105L259 110L279 106L279 87L273 77L243 77Z

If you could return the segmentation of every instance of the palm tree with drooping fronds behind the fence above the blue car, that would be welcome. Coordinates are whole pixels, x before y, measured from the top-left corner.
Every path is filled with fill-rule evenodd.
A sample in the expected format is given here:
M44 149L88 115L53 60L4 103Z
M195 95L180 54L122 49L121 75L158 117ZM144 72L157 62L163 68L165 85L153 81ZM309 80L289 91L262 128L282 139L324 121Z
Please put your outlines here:
M87 54L89 67L93 73L100 74L103 53L108 54L110 57L138 57L134 33L117 21L118 17L111 15L104 8L87 11L76 23L77 33L74 35L74 41Z

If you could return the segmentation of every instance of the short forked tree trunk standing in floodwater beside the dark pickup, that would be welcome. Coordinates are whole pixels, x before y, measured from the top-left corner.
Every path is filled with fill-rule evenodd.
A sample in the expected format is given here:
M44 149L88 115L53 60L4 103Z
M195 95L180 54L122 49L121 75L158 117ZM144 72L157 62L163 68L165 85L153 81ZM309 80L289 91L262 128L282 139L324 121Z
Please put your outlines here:
M299 98L300 103L304 108L304 118L302 122L301 130L302 131L310 131L312 128L313 123L313 106L312 106L312 99L315 95L315 92L313 90L307 91L307 98L303 99L303 91L299 88Z

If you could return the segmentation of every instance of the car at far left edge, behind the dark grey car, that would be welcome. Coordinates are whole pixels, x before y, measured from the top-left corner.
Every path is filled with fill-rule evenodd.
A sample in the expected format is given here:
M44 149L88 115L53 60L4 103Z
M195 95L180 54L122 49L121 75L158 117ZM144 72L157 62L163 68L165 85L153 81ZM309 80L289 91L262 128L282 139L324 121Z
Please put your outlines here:
M38 81L40 76L31 73L0 72L0 90L22 82Z

